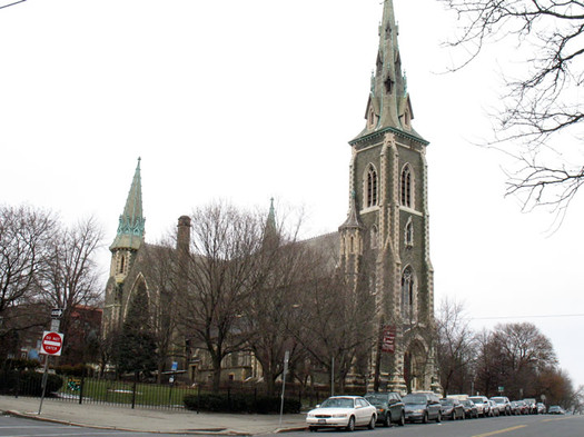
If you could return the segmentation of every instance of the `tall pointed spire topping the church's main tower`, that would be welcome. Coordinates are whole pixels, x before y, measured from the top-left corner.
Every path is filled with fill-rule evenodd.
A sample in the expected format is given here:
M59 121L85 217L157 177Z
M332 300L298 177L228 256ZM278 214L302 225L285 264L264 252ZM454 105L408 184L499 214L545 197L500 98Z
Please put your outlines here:
M384 1L383 21L379 24L379 49L376 69L365 113L366 127L353 141L372 133L395 131L425 141L413 128L414 112L397 42L398 27L395 21L393 0ZM353 143L353 141L350 141Z

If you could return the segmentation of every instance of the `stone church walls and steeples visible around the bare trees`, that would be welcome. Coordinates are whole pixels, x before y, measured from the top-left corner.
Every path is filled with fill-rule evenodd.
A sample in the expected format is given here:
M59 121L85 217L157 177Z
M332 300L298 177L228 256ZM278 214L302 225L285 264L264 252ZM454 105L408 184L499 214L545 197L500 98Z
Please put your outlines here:
M355 289L367 287L375 296L374 329L379 330L380 341L369 354L370 384L377 389L402 393L437 391L434 270L428 234L428 141L412 125L414 111L397 37L394 4L385 0L365 128L349 141L348 216L338 232L316 237L311 244L318 244L320 238L336 240L340 268L347 278L352 278ZM188 238L187 220L179 219L179 244L180 236ZM110 247L112 259L103 311L106 332L119 326L131 290L146 281L139 264L136 265L145 246L143 230L138 163ZM242 361L245 365L230 360L231 377L239 379L260 371L253 357Z

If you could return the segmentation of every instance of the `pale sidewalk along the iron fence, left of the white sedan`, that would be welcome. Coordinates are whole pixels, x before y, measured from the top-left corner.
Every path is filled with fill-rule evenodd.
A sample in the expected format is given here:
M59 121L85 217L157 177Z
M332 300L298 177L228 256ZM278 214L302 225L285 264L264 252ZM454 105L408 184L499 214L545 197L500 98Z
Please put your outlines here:
M39 398L0 396L0 411L85 427L150 433L261 435L306 428L305 415L241 415L79 405Z

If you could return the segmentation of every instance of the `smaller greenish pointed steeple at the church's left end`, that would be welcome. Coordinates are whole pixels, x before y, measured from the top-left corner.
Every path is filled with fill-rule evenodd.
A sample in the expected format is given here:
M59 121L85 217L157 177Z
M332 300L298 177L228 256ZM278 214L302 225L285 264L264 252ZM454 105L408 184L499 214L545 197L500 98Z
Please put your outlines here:
M118 234L110 250L133 249L137 250L143 240L146 219L142 216L142 182L140 178L140 158L133 173L130 192L126 200L126 207L120 216Z

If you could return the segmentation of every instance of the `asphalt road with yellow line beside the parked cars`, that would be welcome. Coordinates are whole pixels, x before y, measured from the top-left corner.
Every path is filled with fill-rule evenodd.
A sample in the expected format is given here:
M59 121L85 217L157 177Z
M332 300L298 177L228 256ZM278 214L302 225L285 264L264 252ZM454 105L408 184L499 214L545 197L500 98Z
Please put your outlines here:
M287 433L286 437L306 433ZM347 431L319 430L311 436L344 434ZM405 427L374 430L358 428L354 437L584 437L584 416L511 416L466 420L446 420L442 424L407 424ZM280 435L281 437L281 435Z

